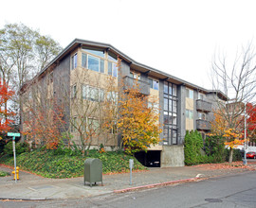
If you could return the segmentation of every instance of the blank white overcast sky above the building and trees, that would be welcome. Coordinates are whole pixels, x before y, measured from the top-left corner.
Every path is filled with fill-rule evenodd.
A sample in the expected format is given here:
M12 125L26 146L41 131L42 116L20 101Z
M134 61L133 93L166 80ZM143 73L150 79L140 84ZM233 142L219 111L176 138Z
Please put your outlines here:
M256 45L255 0L9 0L0 28L23 23L65 47L110 43L135 61L211 89L210 61Z

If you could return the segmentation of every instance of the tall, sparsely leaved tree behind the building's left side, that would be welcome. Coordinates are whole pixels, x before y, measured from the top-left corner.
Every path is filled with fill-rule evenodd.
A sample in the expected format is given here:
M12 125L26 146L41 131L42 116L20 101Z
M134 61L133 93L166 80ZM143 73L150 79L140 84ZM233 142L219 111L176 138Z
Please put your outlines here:
M41 36L37 30L23 24L8 24L0 30L1 77L19 92L60 50L59 43L49 36ZM13 95L12 101L13 111L20 115L19 95Z

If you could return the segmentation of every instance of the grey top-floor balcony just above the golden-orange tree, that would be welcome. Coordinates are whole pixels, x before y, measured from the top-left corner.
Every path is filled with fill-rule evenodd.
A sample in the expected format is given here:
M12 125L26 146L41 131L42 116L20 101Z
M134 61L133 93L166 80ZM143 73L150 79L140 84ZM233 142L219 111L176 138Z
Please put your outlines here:
M150 84L147 81L139 80L136 78L130 78L128 76L123 78L124 90L132 88L135 84L138 84L139 92L143 95L150 95Z

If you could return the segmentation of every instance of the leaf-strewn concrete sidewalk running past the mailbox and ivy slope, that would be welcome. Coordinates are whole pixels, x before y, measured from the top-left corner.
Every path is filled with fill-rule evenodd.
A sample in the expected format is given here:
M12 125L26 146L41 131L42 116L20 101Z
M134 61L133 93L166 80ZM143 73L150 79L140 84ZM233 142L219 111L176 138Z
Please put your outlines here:
M255 165L256 164L251 164ZM9 169L0 165L0 170ZM149 171L133 173L133 184L129 185L130 174L103 175L101 182L90 187L83 185L83 177L74 179L46 179L20 171L20 180L15 183L13 176L0 177L0 199L81 199L111 193L149 188L179 182L191 182L217 176L247 172L245 168L211 169L210 165L149 168ZM197 178L196 178L197 177ZM141 187L142 186L142 187Z

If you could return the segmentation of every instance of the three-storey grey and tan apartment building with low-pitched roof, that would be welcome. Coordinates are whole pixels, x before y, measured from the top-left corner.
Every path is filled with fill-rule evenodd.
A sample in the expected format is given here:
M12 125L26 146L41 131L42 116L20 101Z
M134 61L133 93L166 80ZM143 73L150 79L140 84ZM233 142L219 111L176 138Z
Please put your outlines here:
M118 58L121 60L119 70ZM44 99L50 100L50 97L54 97L59 103L65 100L65 128L71 131L73 139L79 144L78 132L70 124L84 119L84 124L87 122L100 125L97 117L101 113L97 110L97 103L104 97L118 100L116 92L119 83L130 86L135 81L138 82L142 95L156 97L158 122L163 128L161 142L155 147L149 147L148 152L160 161L161 166L184 165L183 143L186 130L199 130L204 137L210 130L214 102L217 99L226 101L228 97L219 91L204 89L134 61L108 43L76 39L42 72L25 84L21 89L25 100L21 107L22 128L26 129L26 120L29 119L27 103L34 100L29 92L32 86L40 83L46 90ZM83 97L80 106L76 106L77 97ZM50 101L46 105L48 102ZM101 134L97 138L98 144L99 139L109 149L118 146L119 139L115 128ZM94 145L96 142L92 141L92 147Z

